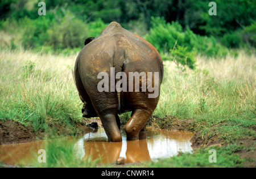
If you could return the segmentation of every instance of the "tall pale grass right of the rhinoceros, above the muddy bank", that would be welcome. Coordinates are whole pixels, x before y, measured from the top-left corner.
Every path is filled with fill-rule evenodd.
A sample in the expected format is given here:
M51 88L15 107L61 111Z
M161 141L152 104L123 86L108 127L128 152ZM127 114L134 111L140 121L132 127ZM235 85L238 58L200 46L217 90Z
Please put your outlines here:
M196 70L164 61L164 80L155 116L255 118L256 58L240 52L221 59L197 56Z

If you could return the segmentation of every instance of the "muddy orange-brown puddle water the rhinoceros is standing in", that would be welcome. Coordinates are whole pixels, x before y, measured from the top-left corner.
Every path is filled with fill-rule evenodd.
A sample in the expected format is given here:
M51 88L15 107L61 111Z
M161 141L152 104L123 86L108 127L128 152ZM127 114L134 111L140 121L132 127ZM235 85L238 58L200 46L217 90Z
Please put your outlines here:
M140 134L140 140L126 141L123 129L122 142L110 143L102 127L76 139L75 155L81 160L91 156L100 157L100 163L113 163L119 157L125 158L125 163L138 161L156 161L177 155L178 152L192 152L191 142L193 133L188 131L168 131L147 128ZM70 140L66 138L64 140ZM39 156L38 150L44 148L44 142L30 142L0 146L0 160L9 164L30 164L32 158ZM47 153L47 151L46 151ZM35 160L34 160L35 161Z

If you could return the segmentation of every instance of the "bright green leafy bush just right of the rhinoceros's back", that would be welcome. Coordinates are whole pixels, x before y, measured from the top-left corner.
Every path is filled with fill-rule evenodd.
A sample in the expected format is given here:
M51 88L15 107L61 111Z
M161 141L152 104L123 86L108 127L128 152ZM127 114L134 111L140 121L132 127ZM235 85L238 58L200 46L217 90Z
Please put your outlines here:
M181 54L179 53L180 50L184 52L184 49L186 49L186 52L184 52L186 54L195 52L207 56L224 56L228 53L228 50L218 43L215 37L196 35L188 27L183 31L183 28L178 22L166 23L163 18L152 17L151 25L150 33L145 38L160 53L168 53L176 45L179 45L179 49L176 49L176 53L178 54ZM183 59L184 56L180 57L180 59ZM184 65L183 62L180 64Z

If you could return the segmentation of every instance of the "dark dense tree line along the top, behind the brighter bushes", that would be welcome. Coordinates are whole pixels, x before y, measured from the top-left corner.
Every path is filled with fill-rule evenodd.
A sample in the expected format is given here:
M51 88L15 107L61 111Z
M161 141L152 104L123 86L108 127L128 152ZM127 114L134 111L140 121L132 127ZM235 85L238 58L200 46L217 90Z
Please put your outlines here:
M28 16L38 18L39 1L2 1L1 19L20 19ZM217 16L208 14L210 1L179 0L46 0L47 16L61 20L61 14L71 12L85 21L101 18L105 23L117 21L132 24L136 21L150 28L151 16L163 16L167 22L179 22L184 28L192 29L200 35L223 36L225 33L240 31L243 27L255 23L254 1L217 0ZM246 30L246 29L245 29Z

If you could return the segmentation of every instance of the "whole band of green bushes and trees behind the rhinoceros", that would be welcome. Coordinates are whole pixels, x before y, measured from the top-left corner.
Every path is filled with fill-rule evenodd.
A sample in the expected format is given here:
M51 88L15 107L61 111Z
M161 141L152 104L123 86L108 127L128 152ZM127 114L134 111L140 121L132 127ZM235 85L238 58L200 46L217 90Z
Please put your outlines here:
M210 1L203 0L44 2L46 16L38 15L38 2L0 2L0 19L13 22L15 19L19 22L18 28L25 28L22 44L26 49L42 50L42 46L47 46L44 48L47 52L60 52L61 49L82 48L86 37L96 37L107 24L117 21L126 29L146 36L162 53L169 53L176 42L187 48L187 52L207 56L227 53L218 42L228 48L247 46L255 51L255 1L216 0L216 16L208 14ZM158 16L162 18L156 18ZM0 27L3 24L0 22ZM140 26L135 28L134 24ZM11 44L11 48L15 49L15 44Z

